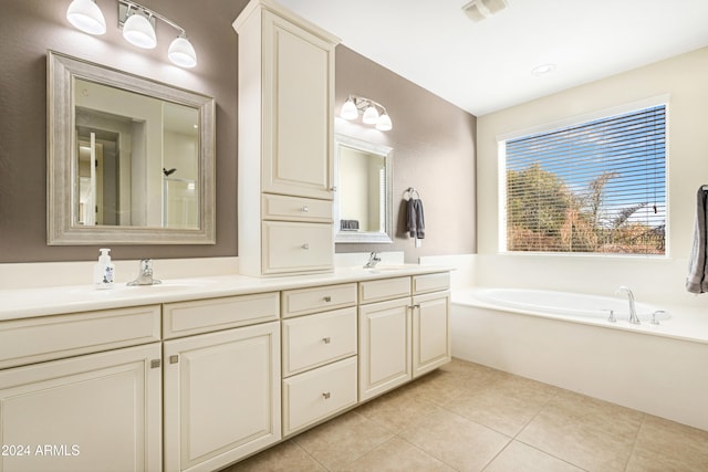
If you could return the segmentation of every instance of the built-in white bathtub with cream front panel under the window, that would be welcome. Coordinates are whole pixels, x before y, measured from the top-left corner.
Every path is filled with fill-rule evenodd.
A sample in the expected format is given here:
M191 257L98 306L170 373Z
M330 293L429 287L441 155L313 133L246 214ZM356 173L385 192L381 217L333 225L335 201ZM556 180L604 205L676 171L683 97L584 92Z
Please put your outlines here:
M708 430L704 311L637 302L634 325L626 295L464 289L451 298L452 356Z

